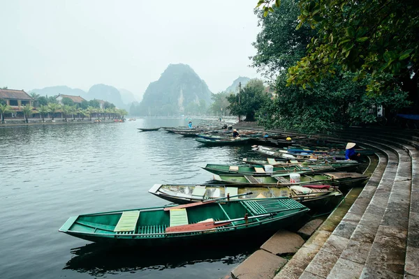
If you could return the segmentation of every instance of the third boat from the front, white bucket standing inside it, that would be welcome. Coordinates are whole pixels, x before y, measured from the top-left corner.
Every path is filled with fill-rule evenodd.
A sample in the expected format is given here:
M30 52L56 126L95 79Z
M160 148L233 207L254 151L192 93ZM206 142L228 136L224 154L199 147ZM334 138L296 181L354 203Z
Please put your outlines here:
M307 184L328 184L342 188L353 188L366 183L369 176L357 172L328 172L323 174L300 174L300 182L291 183L290 174L275 174L274 176L252 175L219 175L214 174L214 179L223 183L237 185L260 185L260 186L293 186Z

